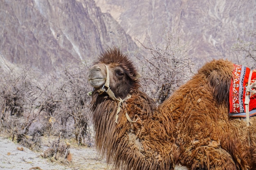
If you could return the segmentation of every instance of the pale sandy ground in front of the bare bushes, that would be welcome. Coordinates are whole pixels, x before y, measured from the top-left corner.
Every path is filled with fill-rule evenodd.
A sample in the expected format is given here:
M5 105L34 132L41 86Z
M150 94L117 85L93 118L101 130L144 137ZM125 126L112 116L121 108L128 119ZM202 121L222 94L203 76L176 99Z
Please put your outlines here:
M111 170L112 168L101 159L94 147L71 147L70 152L72 153L70 165L61 165L43 159L40 157L40 152L33 152L0 137L0 170ZM175 170L187 170L187 168L176 166Z

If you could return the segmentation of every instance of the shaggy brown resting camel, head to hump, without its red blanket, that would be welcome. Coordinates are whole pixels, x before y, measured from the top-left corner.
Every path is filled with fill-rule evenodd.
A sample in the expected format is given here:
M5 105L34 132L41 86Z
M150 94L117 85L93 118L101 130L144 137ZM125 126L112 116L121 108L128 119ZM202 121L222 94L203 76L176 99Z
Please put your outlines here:
M256 117L228 114L233 69L213 60L157 106L128 56L106 50L88 73L99 152L115 170L255 170Z

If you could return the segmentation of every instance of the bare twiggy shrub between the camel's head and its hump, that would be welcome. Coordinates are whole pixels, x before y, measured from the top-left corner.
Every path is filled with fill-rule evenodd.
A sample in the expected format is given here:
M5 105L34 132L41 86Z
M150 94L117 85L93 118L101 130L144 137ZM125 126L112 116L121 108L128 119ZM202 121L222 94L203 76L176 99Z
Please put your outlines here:
M162 103L173 91L184 84L192 75L193 60L189 56L186 45L181 45L179 37L166 31L164 42L151 46L141 46L146 49L146 55L137 57L143 74L142 85L151 97Z

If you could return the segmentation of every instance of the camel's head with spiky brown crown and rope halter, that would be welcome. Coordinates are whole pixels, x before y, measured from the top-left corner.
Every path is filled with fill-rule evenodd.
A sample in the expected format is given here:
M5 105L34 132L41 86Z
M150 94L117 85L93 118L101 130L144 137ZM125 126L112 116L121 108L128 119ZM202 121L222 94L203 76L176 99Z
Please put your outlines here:
M102 53L88 73L88 81L94 91L110 88L117 98L124 98L130 90L139 88L139 77L127 55L117 48Z

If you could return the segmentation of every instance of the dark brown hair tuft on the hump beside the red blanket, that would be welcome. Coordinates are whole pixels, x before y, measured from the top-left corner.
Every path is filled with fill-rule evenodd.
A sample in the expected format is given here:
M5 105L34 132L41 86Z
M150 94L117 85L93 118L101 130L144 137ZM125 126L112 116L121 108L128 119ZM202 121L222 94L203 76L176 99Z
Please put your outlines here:
M229 99L229 86L232 76L220 70L213 70L208 77L214 99L220 104Z

